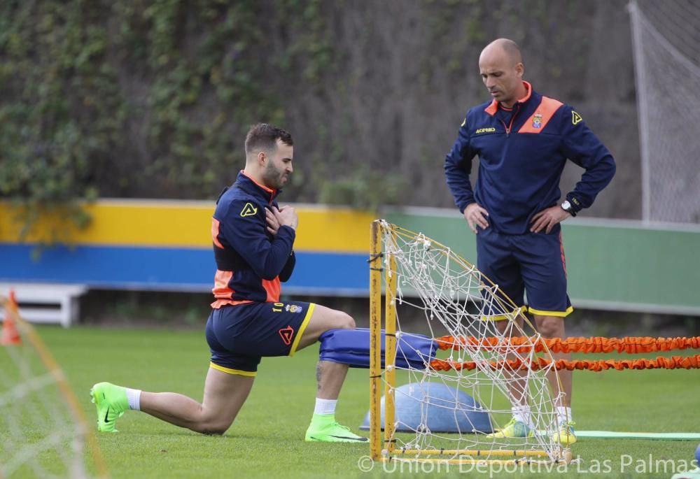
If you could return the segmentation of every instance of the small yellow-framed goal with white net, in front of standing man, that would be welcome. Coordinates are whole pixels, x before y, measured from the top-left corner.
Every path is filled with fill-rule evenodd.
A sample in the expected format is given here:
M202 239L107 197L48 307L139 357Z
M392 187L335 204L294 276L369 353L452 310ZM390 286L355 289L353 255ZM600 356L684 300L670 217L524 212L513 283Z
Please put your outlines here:
M475 266L423 234L376 220L371 238L372 459L570 461L570 451L554 441L561 396L554 396L547 375L559 382L556 364L521 309ZM496 315L508 322L505 332L491 319ZM427 337L435 345L434 357L424 359L422 367L398 360L409 354L409 336ZM447 337L454 338L449 345ZM531 436L493 434L507 424L515 407L526 411ZM435 426L445 417L456 430ZM477 417L486 417L487 426L477 426ZM410 424L412 420L416 422Z

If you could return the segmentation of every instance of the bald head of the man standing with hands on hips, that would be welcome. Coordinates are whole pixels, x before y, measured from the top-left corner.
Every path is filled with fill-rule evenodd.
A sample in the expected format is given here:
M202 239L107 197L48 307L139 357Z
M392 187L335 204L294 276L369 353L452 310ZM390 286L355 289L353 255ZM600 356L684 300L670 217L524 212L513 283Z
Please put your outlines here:
M498 38L486 45L479 55L479 72L491 97L507 108L527 94L522 55L512 40Z

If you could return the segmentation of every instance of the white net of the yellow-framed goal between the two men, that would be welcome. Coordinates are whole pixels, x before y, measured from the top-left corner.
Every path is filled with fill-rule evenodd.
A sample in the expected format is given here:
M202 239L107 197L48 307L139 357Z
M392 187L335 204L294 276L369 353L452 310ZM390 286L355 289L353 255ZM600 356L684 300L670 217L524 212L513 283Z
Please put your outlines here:
M437 351L428 368L397 366L392 385L398 388L394 389L395 401L401 401L401 394L418 396L421 417L417 426L410 427L398 412L395 426L410 432L396 432L388 438L393 439L396 453L409 459L437 450L440 457L455 459L479 451L479 459L498 460L503 459L503 452L517 450L522 452L520 459L531 459L534 455L528 452L533 451L541 453L540 460L561 459L561 446L552 440L559 428L555 405L561 398L553 395L547 380L548 374L556 374L556 366L549 352L535 352L535 345L542 345L541 338L519 308L475 266L444 245L391 224L382 223L381 228L384 269L396 280L396 336L402 349L398 355L406 356L409 345L402 340L411 334L425 334L438 343L444 343L444 336L453 336L459 342L459 346ZM494 316L505 317L505 332L489 319ZM524 337L517 347L509 341L516 337ZM531 368L540 357L549 362ZM386 384L386 371L382 377ZM445 386L465 392L476 402L461 401L456 394L447 399L433 395ZM532 436L499 438L489 435L491 431L473 430L478 428L471 427L468 420L472 413L487 413L497 430L511 419L513 408L524 411ZM454 417L453 422L466 418L462 421L466 427L451 434L431 430L430 414L444 417L446 412ZM472 452L465 454L465 450Z

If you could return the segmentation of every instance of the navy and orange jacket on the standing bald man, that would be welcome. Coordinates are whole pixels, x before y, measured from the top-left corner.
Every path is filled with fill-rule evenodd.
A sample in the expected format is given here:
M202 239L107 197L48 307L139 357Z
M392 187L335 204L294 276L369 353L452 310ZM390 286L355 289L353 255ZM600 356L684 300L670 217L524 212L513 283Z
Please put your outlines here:
M489 212L491 227L503 234L526 233L535 213L556 205L567 158L586 170L566 195L574 212L591 206L615 175L612 155L573 108L524 85L528 94L512 111L496 100L470 109L444 162L459 210L476 201ZM472 190L475 155L479 176Z

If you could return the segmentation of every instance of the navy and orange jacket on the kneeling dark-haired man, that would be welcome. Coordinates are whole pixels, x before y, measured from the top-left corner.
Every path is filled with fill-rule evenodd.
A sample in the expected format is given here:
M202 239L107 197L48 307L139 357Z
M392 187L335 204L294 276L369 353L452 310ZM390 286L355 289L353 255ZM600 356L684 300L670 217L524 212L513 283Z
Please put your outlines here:
M244 174L224 190L211 219L216 276L213 308L225 304L279 301L280 281L286 281L295 264L295 231L282 226L273 236L267 231L265 208L277 207L279 190L255 183Z

